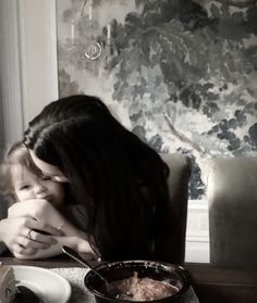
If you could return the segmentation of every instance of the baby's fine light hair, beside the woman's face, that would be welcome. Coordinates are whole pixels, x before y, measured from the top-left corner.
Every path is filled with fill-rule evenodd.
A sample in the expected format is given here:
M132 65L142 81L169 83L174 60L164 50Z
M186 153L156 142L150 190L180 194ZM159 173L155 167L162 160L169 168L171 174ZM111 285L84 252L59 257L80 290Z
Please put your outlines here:
M15 142L4 154L0 167L0 190L11 202L16 200L12 181L12 166L17 164L26 167L36 176L41 175L41 171L34 164L29 151L24 143L22 141Z

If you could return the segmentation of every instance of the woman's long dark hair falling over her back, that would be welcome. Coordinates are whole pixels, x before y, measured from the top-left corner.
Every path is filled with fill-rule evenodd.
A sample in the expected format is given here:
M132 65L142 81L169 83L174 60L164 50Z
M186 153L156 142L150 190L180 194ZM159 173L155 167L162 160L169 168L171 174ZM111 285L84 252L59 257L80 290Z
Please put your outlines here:
M175 226L169 168L101 100L72 96L48 104L29 123L24 143L70 179L103 258L175 262L175 243L167 241Z

